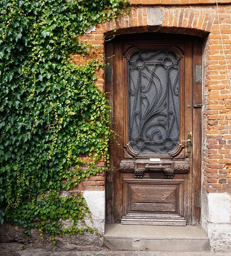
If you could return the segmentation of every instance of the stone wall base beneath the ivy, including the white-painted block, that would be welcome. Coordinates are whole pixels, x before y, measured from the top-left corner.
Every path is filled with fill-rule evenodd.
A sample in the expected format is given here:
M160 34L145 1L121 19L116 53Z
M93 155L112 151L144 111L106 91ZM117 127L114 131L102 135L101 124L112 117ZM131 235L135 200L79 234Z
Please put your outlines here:
M86 199L88 208L91 211L91 219L87 216L85 222L89 227L104 233L105 225L105 191L84 191L83 196ZM72 225L70 221L63 221L63 227L68 228ZM79 228L84 227L79 223ZM0 250L21 249L26 241L27 235L23 230L15 225L4 223L0 227ZM26 247L33 247L49 251L71 251L71 250L100 250L103 246L103 238L89 232L82 235L76 233L73 236L63 235L55 237L56 244L53 245L51 235L43 232L43 239L37 229L31 230L29 241L25 243Z

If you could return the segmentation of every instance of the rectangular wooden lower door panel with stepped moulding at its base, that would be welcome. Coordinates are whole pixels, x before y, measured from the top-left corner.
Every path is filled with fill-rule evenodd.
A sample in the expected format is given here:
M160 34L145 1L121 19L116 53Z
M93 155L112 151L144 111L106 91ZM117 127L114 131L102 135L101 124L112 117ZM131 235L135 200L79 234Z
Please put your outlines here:
M133 221L145 221L147 218L155 225L155 219L160 225L174 225L180 221L185 224L184 211L184 181L183 180L136 180L124 179L124 217L122 223L132 224ZM154 223L154 224L153 224ZM178 224L177 224L178 225Z

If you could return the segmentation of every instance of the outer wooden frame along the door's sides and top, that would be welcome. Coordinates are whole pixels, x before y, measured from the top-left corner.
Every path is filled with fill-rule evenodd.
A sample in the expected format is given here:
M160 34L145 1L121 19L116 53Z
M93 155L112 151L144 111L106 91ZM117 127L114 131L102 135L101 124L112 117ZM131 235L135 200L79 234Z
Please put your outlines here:
M123 40L131 39L133 36L144 37L145 34L134 34L134 35L124 35ZM190 38L193 44L193 77L192 77L192 86L193 86L193 105L190 106L193 112L193 163L192 163L192 225L200 225L201 221L201 207L200 207L200 198L201 198L201 148L202 148L202 118L201 118L201 108L194 107L194 105L202 104L202 79L200 82L196 79L196 66L201 67L202 65L202 39L194 36L185 36L185 35L169 35L169 34L146 34L147 36L155 36L158 39L170 39L173 36L177 39L185 39L185 37ZM113 52L113 39L106 43L105 45L105 56L106 63L109 63L111 66L111 81L105 81L105 91L107 92L107 97L111 106L111 129L114 128L114 80L113 80L113 62L116 61ZM185 70L187 72L187 70ZM189 74L188 74L189 75ZM121 79L118 77L117 79ZM113 166L114 163L114 153L113 153L113 142L109 143L108 148L110 154L110 166ZM106 171L106 223L114 223L114 174L113 171ZM198 197L199 195L199 197ZM199 202L198 202L199 200ZM122 203L121 203L122 205Z

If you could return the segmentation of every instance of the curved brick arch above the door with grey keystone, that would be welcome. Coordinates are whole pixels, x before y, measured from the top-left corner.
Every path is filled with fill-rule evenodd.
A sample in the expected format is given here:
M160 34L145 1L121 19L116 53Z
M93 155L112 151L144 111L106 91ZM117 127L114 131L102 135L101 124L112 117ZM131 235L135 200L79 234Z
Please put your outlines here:
M104 35L133 32L171 32L197 36L207 35L212 27L215 11L212 6L190 8L190 6L132 8L129 14L116 21L102 24Z

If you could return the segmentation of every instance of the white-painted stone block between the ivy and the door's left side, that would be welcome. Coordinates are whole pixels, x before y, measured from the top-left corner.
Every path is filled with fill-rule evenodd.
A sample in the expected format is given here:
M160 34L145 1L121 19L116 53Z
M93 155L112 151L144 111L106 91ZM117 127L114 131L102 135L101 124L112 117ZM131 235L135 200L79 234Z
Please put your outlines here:
M85 198L87 206L91 211L94 228L97 229L99 233L104 233L105 191L85 190L83 192L83 197ZM86 221L86 223L90 225L89 221Z

